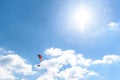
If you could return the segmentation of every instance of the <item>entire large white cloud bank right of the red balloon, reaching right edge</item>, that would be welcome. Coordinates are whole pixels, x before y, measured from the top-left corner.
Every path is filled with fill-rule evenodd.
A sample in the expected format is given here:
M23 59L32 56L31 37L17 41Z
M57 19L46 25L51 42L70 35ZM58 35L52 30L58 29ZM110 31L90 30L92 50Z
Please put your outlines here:
M92 60L74 50L59 48L47 49L45 55L50 57L42 61L40 67L36 65L36 68L42 71L37 80L89 80L93 77L98 79L100 74L90 70L91 66L107 65L120 61L118 55L105 55L102 60Z

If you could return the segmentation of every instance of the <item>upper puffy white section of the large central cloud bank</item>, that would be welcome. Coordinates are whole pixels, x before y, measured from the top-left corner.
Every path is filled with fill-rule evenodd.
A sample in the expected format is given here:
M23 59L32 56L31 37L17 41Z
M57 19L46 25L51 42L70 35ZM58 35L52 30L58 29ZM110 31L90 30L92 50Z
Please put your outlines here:
M74 50L64 50L59 48L50 48L45 51L45 54L49 54L52 58L50 63L70 64L71 66L81 65L89 66L91 59L85 59L82 54L76 54ZM59 62L58 62L59 61Z

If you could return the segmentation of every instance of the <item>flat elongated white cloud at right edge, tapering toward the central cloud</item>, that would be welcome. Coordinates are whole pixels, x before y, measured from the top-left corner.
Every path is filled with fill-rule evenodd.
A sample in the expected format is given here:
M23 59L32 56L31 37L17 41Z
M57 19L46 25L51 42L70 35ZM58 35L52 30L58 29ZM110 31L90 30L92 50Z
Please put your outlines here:
M112 64L113 62L120 61L120 56L118 55L106 55L102 60L95 60L93 64Z

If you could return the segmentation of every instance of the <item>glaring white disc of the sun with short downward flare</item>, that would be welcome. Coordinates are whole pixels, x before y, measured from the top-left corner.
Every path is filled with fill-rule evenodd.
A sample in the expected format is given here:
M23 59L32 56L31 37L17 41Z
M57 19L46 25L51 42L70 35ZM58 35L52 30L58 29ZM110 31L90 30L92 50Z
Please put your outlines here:
M80 32L85 32L87 30L87 24L91 21L91 12L85 6L77 7L72 14L72 21L77 25L77 30Z

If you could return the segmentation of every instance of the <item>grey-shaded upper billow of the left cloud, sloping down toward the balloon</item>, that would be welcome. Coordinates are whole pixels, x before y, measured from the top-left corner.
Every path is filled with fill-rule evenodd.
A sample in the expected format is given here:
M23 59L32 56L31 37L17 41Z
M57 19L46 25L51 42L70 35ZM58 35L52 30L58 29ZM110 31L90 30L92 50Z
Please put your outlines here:
M21 58L17 54L8 54L0 56L0 67L15 71L16 73L22 73L24 75L33 74L32 65L26 64L25 59Z

